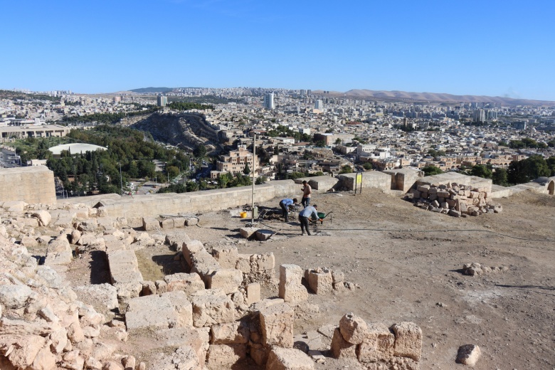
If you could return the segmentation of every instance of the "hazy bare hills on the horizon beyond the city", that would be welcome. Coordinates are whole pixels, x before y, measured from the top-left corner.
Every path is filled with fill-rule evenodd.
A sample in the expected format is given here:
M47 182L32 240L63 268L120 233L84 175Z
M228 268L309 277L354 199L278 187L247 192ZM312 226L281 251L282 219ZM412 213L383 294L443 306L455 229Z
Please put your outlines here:
M175 88L140 88L129 90L133 93L168 93ZM314 94L323 94L322 90L312 90ZM555 102L547 100L514 99L512 97L485 96L485 95L452 95L445 93L408 93L406 91L384 90L349 90L345 93L330 91L325 95L330 97L351 97L359 99L376 100L409 100L413 102L495 102L497 105L551 105Z

